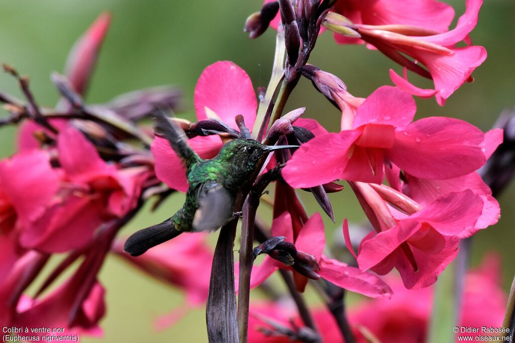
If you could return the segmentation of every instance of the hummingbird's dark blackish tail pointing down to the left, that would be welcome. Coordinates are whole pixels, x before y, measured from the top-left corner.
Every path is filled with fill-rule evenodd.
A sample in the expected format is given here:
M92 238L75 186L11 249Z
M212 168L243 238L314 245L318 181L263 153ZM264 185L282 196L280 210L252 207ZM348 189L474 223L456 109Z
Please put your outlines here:
M170 219L133 233L125 241L124 251L131 256L139 256L148 249L180 235L182 231L177 230Z

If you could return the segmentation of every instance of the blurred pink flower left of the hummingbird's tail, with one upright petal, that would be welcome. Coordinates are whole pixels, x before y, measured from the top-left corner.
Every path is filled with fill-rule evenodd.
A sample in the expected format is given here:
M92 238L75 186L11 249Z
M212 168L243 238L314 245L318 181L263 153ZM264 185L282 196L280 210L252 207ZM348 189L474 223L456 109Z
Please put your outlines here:
M61 188L48 209L21 232L26 248L64 252L84 246L100 224L135 207L148 177L146 168L118 169L106 163L73 127L60 131L57 151Z

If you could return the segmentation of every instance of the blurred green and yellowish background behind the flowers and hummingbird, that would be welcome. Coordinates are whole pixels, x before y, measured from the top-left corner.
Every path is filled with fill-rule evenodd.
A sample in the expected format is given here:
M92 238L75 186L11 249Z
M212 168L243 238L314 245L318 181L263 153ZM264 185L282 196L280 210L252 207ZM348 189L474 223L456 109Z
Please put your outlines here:
M344 0L340 0L344 1ZM457 16L465 0L450 1ZM167 0L0 0L0 62L14 65L29 75L31 88L42 105L52 106L58 94L49 81L52 71L62 71L68 49L104 10L113 22L102 48L97 71L87 100L104 102L117 94L159 84L176 84L184 91L185 117L193 118L193 91L203 68L217 60L232 60L252 78L254 87L265 86L271 70L274 33L269 30L257 40L242 31L245 18L259 10L254 1L167 1ZM488 50L488 59L473 74L475 82L460 88L444 108L434 99L417 99L417 117L438 115L465 119L488 130L503 109L515 106L515 2L485 2L479 23L471 37ZM310 63L339 76L355 96L365 97L383 84L391 84L388 68L401 68L382 54L364 46L337 46L332 35L323 34ZM18 97L15 81L0 74L0 89ZM306 117L317 118L325 127L339 128L339 113L323 96L302 80L288 101L288 109L306 106ZM0 110L0 115L5 111ZM182 114L181 114L182 115ZM0 130L0 157L11 155L15 129ZM302 198L308 213L319 211L307 193ZM502 217L499 224L479 232L473 243L472 265L488 251L502 256L503 287L515 273L515 183L500 197ZM123 231L130 232L155 224L181 204L183 195L174 195L155 214L143 211ZM352 222L364 219L353 194L331 195L336 222L344 217ZM337 225L325 218L327 237ZM212 235L215 241L216 234ZM237 247L235 248L237 249ZM203 309L190 312L178 325L156 333L152 320L182 302L182 293L145 277L114 257L101 271L107 288L108 314L102 322L105 341L205 341ZM316 300L313 299L313 300ZM84 342L94 339L83 339Z

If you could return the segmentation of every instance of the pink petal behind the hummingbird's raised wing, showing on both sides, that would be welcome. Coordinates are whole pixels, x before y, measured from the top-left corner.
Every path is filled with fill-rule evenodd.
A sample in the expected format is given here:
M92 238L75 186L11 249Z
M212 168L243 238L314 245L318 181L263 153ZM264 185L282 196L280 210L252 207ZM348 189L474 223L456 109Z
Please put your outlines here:
M198 136L188 140L188 143L203 159L215 157L222 147L222 142L216 136ZM170 188L185 193L188 189L186 168L175 151L171 149L168 141L156 137L150 146L150 150L155 159L157 177Z

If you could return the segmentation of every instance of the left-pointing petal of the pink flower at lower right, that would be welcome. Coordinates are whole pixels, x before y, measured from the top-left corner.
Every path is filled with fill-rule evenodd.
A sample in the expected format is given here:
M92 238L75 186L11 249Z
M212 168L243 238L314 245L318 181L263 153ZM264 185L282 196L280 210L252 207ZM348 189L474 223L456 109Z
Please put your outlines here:
M400 221L396 227L376 234L361 245L357 256L359 269L370 269L380 263L419 229L419 222L406 219Z

